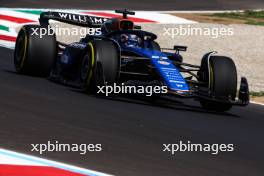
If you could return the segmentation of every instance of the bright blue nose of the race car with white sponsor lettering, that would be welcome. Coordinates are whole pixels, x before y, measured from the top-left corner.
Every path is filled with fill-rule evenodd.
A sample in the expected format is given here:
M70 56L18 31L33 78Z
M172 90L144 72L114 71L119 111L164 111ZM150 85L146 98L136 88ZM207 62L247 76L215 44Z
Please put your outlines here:
M124 47L123 50L135 52L142 57L149 58L151 60L151 64L155 67L156 71L163 79L163 82L170 90L189 91L189 86L185 79L166 54L157 50L134 46Z

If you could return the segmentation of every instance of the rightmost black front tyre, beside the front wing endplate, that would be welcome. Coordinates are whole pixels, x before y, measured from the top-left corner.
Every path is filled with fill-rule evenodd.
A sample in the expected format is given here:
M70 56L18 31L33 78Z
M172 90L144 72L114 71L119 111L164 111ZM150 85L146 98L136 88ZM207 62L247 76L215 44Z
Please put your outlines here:
M209 62L209 63L208 63ZM231 58L224 56L204 57L201 70L198 73L199 81L207 82L209 90L216 97L226 100L235 100L237 90L236 66ZM200 104L207 110L228 111L231 104L200 100Z

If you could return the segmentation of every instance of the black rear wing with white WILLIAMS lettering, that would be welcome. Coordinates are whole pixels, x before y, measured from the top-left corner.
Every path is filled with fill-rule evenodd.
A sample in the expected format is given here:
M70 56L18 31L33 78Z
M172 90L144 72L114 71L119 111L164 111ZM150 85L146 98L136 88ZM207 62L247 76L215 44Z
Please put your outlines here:
M100 27L106 20L108 20L108 18L64 12L42 12L40 14L40 25L49 25L49 20L82 27Z

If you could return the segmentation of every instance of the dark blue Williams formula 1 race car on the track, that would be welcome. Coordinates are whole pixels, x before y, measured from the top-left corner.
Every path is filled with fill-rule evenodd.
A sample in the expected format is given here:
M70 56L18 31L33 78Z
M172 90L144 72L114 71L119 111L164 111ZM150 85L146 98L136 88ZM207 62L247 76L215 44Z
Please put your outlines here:
M167 86L166 96L194 98L203 108L214 111L249 103L244 77L237 97L237 72L231 58L209 52L199 66L184 63L180 52L187 47L161 48L155 34L141 30L128 18L135 12L116 13L122 16L107 19L64 12L41 13L40 25L25 25L18 34L14 51L16 71L76 85L90 93L106 84L155 82ZM47 29L49 20L99 28L101 33L86 35L71 44L57 41L54 33L33 35Z

